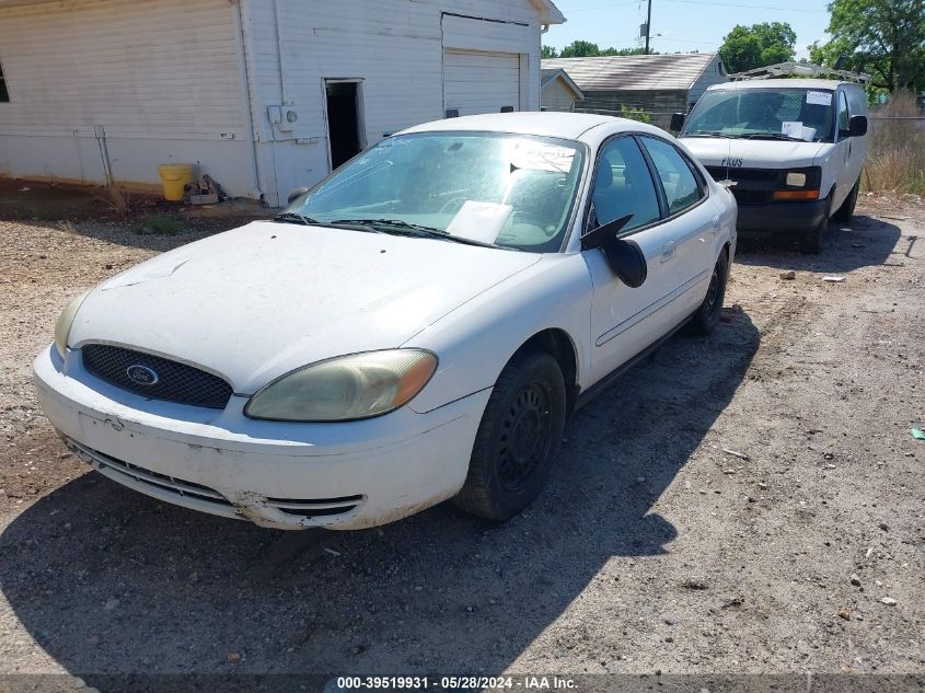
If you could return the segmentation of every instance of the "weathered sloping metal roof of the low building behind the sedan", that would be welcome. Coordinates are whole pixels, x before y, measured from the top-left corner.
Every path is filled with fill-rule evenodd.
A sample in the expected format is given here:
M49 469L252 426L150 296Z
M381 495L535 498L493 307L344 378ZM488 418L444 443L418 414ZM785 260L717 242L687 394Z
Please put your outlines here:
M715 60L715 53L551 58L543 69L562 69L579 89L592 91L687 90Z

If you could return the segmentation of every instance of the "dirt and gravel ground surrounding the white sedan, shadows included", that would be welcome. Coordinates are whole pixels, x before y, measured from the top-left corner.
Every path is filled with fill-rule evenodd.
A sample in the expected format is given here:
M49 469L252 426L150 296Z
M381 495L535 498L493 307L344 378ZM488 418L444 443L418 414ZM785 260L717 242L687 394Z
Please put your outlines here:
M157 503L36 406L69 297L217 228L0 221L0 672L925 674L920 198L741 247L714 335L580 411L522 516L355 533Z

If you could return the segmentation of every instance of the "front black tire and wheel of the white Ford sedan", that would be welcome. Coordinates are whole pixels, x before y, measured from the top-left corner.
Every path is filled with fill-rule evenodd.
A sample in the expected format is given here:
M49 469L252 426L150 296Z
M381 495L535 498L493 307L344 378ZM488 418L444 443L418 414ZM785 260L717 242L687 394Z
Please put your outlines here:
M566 414L565 379L545 351L514 357L501 371L453 504L492 520L529 506L546 483L559 450Z

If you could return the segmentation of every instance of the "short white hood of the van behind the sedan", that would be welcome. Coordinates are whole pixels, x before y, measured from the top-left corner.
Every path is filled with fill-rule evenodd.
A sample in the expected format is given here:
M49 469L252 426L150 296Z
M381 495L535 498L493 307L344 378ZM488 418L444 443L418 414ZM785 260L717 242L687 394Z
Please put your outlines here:
M705 166L724 166L728 159L745 169L799 169L811 166L825 142L685 137L681 140ZM741 160L741 163L739 163Z

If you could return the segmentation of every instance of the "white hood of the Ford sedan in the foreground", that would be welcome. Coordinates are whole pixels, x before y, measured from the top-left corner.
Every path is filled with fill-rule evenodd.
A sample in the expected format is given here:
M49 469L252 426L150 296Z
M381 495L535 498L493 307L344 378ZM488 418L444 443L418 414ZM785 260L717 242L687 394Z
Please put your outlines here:
M541 255L259 221L94 289L69 343L205 368L236 393L321 359L394 348Z

